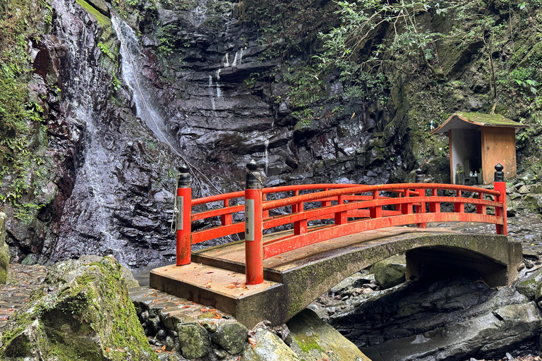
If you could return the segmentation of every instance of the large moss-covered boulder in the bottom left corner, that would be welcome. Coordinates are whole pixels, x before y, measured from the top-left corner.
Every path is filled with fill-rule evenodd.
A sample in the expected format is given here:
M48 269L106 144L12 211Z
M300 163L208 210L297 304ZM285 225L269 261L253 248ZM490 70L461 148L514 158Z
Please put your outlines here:
M112 256L55 264L2 342L0 360L157 360Z

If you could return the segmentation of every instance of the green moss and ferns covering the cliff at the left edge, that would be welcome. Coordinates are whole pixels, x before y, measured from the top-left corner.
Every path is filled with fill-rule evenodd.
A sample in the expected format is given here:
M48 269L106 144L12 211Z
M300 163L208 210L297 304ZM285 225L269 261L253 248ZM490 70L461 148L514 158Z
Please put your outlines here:
M51 6L40 1L39 6L27 0L0 2L0 207L10 204L13 215L25 222L34 218L42 205L35 204L25 195L33 196L39 189L37 182L43 160L32 152L33 137L40 133L46 138L43 109L28 100L27 83L32 74L28 56L28 32ZM47 141L45 141L47 144Z

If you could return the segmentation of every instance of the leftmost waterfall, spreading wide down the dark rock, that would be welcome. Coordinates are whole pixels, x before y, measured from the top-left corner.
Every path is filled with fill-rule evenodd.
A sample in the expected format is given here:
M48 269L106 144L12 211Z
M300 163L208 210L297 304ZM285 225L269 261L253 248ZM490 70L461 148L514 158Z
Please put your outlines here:
M88 253L113 254L119 262L128 263L126 241L112 231L114 204L112 176L104 169L116 163L114 138L107 137L109 129L102 122L97 99L107 94L100 79L103 74L95 57L90 56L95 38L90 27L78 18L72 1L54 0L56 28L66 44L69 77L66 77L63 98L69 109L66 117L84 124L81 140L82 164L77 169L73 190L64 205L59 222L61 238L47 251L54 259L86 255ZM95 239L88 242L89 239Z

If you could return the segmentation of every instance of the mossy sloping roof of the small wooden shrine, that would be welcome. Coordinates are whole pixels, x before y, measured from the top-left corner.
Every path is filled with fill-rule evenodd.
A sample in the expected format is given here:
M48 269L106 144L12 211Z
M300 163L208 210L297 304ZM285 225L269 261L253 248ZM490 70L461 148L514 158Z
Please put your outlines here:
M433 130L431 135L445 133L450 129L478 129L480 127L526 128L524 124L500 114L454 113L442 126Z

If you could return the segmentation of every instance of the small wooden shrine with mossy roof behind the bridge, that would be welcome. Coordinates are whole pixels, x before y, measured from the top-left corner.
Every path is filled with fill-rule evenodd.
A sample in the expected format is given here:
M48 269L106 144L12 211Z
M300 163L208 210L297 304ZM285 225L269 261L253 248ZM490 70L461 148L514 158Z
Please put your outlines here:
M525 127L499 114L455 113L431 135L448 134L453 184L490 184L495 164L505 167L505 179L516 175L515 131Z

